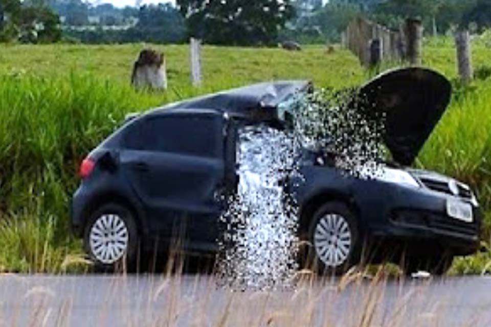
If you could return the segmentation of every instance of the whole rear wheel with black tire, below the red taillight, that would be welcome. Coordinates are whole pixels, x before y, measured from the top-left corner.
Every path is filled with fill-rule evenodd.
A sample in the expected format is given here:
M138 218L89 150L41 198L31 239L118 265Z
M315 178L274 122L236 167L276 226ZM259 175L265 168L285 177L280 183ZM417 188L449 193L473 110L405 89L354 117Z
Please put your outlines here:
M88 219L83 243L96 270L133 269L139 244L135 215L119 203L102 205Z

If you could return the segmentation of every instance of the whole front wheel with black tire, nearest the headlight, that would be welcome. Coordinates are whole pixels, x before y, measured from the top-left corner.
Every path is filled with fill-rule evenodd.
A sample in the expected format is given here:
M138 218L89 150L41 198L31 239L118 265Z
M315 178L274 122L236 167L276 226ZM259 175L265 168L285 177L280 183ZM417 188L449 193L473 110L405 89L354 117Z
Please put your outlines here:
M342 275L360 263L358 222L341 202L329 202L314 214L306 265L321 274Z

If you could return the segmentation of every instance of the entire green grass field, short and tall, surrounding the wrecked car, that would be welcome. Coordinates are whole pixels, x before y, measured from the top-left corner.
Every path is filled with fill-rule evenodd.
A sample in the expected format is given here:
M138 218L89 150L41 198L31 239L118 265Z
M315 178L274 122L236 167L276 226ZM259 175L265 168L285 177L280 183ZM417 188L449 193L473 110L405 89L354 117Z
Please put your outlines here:
M169 90L129 87L133 60L144 44L0 45L0 269L80 271L81 246L68 229L69 199L80 160L128 112L145 110L251 82L309 79L318 87L359 85L373 76L354 56L322 46L280 49L206 46L204 85L190 86L187 46L154 46L167 57ZM424 64L453 81L454 96L417 165L455 176L479 192L491 225L491 50L474 44L480 79L456 81L455 50L430 40ZM486 66L488 63L489 66ZM489 69L491 71L491 69ZM487 242L488 244L488 242ZM490 253L459 259L454 272L491 271Z

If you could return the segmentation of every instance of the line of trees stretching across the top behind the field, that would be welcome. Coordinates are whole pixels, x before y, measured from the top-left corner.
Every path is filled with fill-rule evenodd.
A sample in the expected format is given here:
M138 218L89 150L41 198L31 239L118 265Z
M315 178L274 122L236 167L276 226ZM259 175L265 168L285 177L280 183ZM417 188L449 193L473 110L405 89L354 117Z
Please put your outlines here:
M223 45L334 42L358 15L398 29L408 16L426 33L491 28L489 0L177 0L116 8L82 0L0 0L0 41ZM97 18L94 20L94 17ZM92 18L92 19L91 19Z

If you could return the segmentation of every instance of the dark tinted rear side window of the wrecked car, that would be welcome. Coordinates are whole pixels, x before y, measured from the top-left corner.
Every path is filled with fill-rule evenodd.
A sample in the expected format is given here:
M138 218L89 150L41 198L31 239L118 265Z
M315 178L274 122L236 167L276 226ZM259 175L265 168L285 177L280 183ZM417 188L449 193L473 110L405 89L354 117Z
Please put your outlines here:
M216 116L156 116L140 122L138 129L140 150L205 157L218 157L221 153L221 126Z

